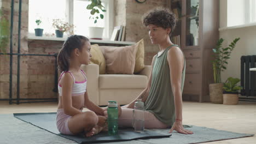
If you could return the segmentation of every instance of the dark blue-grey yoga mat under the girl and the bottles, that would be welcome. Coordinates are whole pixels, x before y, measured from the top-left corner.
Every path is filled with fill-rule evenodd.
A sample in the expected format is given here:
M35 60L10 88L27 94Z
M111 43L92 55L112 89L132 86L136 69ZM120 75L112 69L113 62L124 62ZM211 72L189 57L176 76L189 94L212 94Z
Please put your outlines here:
M56 112L51 113L14 113L14 117L21 119L24 122L31 123L36 127L45 129L51 133L60 135L78 143L96 143L96 142L115 142L115 141L131 141L137 139L155 139L161 137L169 137L171 134L160 134L155 131L145 130L141 133L136 133L133 129L119 129L117 135L109 136L107 131L85 137L80 135L63 135L56 127Z

